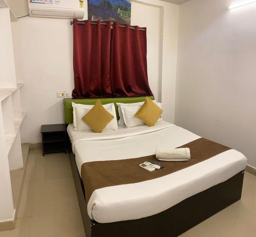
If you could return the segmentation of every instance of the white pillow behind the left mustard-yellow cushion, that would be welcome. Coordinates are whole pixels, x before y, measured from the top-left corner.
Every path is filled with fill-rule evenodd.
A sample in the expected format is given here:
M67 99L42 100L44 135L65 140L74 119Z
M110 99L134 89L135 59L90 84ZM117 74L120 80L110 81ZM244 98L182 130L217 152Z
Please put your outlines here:
M73 105L74 104L74 105ZM91 127L82 120L82 117L87 114L94 105L82 105L75 104L72 102L73 106L73 121L74 121L74 130L83 131L83 130L92 130ZM114 103L103 105L103 107L114 116L114 118L107 124L103 130L117 130L117 120L115 114L115 105ZM75 113L74 113L75 111ZM75 115L74 115L75 114Z

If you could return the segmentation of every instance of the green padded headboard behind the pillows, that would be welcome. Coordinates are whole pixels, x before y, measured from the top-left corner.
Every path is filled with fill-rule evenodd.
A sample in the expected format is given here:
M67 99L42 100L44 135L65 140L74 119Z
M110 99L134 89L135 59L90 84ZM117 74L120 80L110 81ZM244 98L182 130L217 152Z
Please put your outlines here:
M153 96L148 96L150 99L154 100ZM103 105L114 103L115 104L115 112L117 120L120 118L118 114L118 107L116 103L136 103L145 101L145 96L143 97L125 97L125 98L99 98ZM94 99L64 99L64 109L65 109L65 123L73 123L73 108L72 102L76 104L83 104L83 105L95 105L98 98Z

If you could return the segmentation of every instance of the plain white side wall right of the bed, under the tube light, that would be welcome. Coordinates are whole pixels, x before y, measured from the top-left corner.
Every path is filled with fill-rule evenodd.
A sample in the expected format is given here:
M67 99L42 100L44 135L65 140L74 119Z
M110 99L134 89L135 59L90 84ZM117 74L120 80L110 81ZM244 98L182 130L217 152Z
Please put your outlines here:
M256 4L180 6L175 123L244 153L256 167Z

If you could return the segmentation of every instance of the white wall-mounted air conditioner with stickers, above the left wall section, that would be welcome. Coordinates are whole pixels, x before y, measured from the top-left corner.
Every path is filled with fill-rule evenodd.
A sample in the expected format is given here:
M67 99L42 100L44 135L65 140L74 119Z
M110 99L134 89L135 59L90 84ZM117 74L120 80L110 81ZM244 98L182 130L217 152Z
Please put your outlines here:
M86 1L87 4L87 1ZM83 19L84 0L28 0L29 16Z

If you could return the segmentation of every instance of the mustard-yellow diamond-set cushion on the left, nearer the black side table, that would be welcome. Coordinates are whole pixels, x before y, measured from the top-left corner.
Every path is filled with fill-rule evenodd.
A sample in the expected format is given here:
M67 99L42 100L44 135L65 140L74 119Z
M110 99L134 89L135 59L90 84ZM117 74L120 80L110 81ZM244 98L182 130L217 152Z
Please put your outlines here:
M94 132L102 132L107 124L114 118L105 108L102 106L100 100L97 100L92 109L82 117Z

